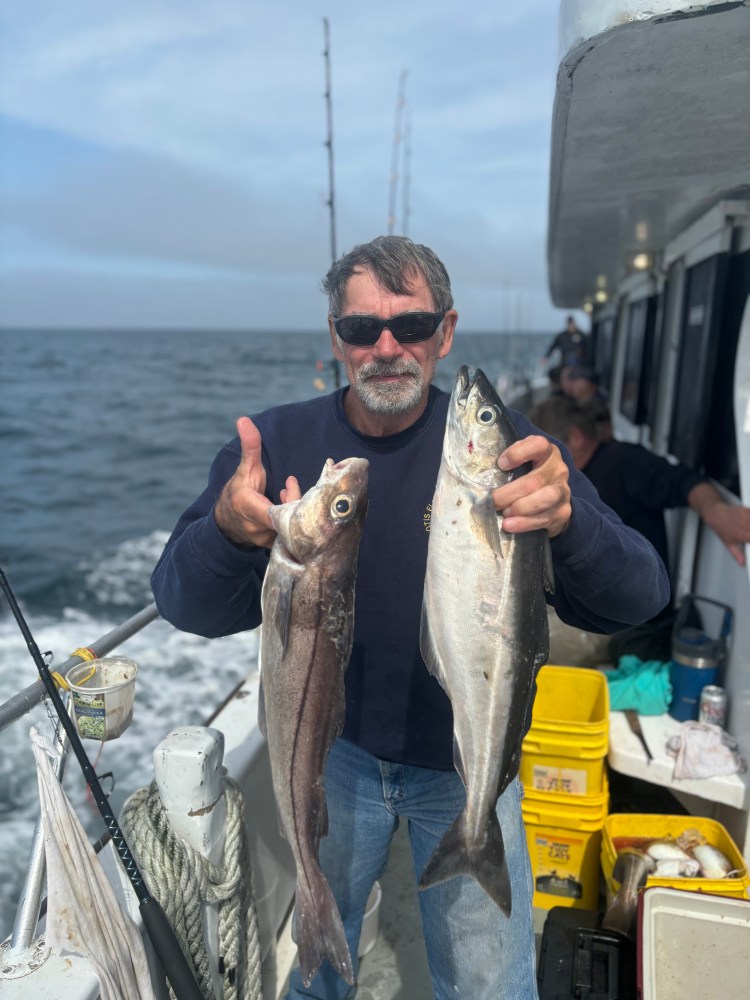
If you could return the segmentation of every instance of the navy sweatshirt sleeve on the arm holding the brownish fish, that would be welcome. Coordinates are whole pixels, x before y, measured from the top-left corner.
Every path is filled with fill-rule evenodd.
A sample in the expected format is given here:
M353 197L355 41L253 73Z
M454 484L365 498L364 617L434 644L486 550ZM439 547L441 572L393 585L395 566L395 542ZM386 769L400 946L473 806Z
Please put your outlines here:
M159 613L183 632L216 638L260 624L268 551L233 545L213 514L239 460L236 442L219 452L206 489L177 522L151 577Z

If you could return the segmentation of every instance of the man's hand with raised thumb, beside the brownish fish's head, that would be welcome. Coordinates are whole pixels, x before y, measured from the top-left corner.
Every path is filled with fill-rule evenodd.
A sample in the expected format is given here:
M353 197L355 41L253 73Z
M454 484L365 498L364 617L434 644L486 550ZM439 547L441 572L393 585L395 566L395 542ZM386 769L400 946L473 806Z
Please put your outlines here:
M266 470L260 457L260 432L249 417L240 417L237 433L242 458L214 507L214 518L219 531L234 545L270 548L276 532L268 516L271 502L264 495ZM301 496L299 483L289 476L281 491L281 502L299 500Z

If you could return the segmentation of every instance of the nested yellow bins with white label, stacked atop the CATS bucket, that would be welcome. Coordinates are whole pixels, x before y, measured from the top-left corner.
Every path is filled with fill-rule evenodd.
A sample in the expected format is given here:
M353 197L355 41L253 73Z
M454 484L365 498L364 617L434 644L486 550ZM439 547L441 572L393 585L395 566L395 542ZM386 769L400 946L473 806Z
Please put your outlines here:
M542 667L531 728L521 746L519 776L526 789L600 794L608 744L604 674L580 667Z

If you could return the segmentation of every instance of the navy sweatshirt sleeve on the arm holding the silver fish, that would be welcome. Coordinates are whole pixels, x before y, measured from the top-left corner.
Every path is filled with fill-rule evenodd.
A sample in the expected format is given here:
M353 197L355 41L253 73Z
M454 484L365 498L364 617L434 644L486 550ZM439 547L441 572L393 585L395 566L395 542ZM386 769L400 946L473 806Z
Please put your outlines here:
M513 414L519 433L543 434ZM555 611L568 625L589 632L617 632L653 618L669 601L669 577L647 539L628 528L599 498L573 465L570 452L554 438L569 471L572 516L552 539Z

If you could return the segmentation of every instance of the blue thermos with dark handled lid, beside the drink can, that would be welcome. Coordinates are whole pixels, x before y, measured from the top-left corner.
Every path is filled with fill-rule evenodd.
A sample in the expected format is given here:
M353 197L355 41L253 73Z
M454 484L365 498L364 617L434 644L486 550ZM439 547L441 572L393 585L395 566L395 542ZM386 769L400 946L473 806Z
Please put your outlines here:
M711 636L703 627L698 603L712 604L719 608L721 626L718 635ZM708 597L686 595L677 612L672 629L672 703L669 714L679 722L698 718L700 694L707 684L719 682L719 671L724 663L729 633L732 629L732 610Z

